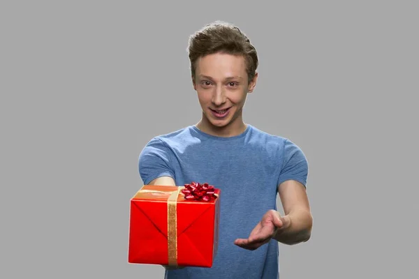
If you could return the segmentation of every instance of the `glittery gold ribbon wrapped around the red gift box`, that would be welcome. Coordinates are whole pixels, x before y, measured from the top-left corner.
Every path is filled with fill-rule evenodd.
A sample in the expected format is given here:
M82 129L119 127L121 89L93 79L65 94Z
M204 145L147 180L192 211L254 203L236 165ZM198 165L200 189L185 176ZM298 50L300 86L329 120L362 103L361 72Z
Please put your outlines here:
M177 186L175 191L141 189L138 193L168 194L168 265L177 266L177 197L184 186Z

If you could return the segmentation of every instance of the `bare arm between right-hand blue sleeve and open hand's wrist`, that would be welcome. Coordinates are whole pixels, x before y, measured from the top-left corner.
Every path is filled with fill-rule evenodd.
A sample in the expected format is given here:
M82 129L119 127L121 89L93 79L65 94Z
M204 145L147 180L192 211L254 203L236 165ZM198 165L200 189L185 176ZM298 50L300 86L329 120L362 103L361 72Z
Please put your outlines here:
M298 181L288 180L279 185L278 192L284 207L285 224L277 230L274 239L288 245L308 241L313 217L306 188Z

